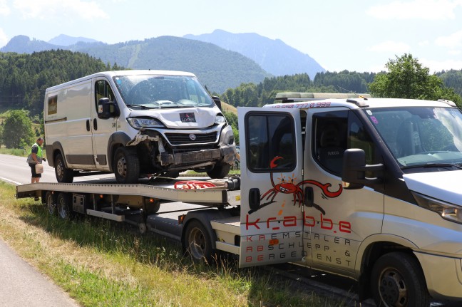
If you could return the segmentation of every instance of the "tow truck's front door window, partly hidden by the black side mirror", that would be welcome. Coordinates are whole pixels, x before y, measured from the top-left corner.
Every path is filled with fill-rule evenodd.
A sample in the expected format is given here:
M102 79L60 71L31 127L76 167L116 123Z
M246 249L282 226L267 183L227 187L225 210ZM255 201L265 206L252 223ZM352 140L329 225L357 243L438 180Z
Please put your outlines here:
M324 170L341 176L343 155L349 148L364 150L366 163L373 164L374 142L353 112L316 113L312 123L312 155Z

